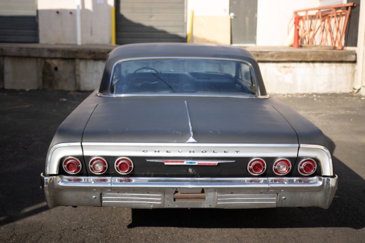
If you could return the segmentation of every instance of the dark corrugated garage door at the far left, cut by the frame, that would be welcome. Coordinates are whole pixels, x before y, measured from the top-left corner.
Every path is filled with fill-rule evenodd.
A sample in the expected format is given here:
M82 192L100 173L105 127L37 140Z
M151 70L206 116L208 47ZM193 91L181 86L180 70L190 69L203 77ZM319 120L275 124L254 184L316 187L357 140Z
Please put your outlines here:
M0 0L0 42L38 42L35 0Z

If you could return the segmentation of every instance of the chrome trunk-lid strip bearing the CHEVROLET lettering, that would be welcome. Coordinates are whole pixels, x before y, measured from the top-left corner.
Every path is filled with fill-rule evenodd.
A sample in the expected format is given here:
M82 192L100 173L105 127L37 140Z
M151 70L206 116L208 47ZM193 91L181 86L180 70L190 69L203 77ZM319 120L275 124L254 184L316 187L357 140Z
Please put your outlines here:
M250 143L82 143L85 156L297 157L298 147Z

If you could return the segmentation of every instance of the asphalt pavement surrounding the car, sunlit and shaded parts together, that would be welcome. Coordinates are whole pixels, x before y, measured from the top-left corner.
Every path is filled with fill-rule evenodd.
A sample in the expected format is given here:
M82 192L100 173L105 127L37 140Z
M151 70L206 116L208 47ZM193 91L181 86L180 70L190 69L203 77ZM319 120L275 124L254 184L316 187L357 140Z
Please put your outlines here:
M277 95L330 142L329 209L49 209L39 189L58 125L89 93L0 90L0 242L365 242L365 100Z

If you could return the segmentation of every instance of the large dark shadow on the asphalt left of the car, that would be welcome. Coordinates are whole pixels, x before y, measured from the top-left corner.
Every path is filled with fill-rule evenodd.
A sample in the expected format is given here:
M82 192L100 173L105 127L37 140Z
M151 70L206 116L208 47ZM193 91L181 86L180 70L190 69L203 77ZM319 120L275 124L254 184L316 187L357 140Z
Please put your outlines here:
M0 90L0 225L49 210L40 189L58 125L90 92Z

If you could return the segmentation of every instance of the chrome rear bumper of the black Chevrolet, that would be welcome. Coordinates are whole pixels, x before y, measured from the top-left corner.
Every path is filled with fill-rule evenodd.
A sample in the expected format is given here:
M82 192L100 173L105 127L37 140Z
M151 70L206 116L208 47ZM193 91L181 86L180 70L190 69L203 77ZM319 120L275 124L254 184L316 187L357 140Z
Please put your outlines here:
M41 188L50 208L330 207L335 177L161 178L44 176ZM175 193L201 193L205 200L181 202Z

